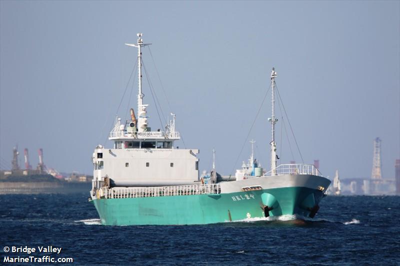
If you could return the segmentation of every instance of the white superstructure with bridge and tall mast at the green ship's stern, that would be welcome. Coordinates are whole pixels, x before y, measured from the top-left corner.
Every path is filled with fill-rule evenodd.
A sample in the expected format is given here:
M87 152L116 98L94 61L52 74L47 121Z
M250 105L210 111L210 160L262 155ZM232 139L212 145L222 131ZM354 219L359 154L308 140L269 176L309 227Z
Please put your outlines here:
M174 141L180 139L175 131L175 115L164 129L151 131L147 107L143 104L141 83L141 48L145 45L137 34L138 49L137 115L130 109L130 120L115 117L108 139L113 148L98 145L92 155L93 187L108 183L111 187L179 186L198 184L197 149L178 149Z

